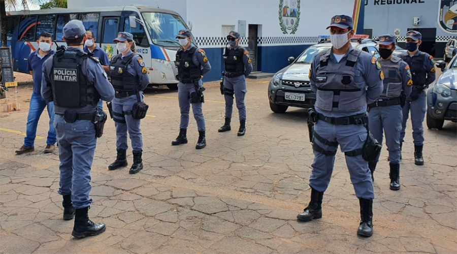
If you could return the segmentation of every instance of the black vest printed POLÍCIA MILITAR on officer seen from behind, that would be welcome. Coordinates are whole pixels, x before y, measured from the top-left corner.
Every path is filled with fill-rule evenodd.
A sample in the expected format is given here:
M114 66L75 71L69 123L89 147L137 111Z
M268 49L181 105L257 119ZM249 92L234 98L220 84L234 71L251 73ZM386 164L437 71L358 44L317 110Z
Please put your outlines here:
M53 57L51 84L54 105L62 108L95 107L100 94L89 84L86 75L89 54L82 51L58 50ZM91 58L93 59L93 58Z

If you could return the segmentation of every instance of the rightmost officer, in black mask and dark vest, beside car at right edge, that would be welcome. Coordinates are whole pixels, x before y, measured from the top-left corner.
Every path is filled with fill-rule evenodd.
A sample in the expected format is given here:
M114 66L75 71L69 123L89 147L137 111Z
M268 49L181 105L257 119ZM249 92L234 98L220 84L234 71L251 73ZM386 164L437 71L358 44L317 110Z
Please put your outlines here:
M414 140L414 164L423 165L423 118L427 112L426 91L433 81L435 81L435 62L433 56L419 51L418 47L422 44L422 35L418 31L408 31L406 33L407 53L403 53L401 58L408 63L412 74L412 90L409 98L406 98L403 107L403 123L400 133L400 150L405 141L406 121L411 110L411 124Z

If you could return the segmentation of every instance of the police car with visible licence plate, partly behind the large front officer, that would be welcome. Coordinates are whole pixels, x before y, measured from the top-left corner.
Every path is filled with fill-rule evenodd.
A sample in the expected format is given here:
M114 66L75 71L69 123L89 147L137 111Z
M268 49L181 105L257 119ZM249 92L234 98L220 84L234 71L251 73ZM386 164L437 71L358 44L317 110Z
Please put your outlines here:
M355 38L351 39L352 47L379 57L376 42L371 40L364 42L362 40L367 37L355 36ZM290 65L278 71L268 86L270 109L273 112L284 113L288 107L314 107L316 93L311 90L309 84L309 69L313 57L330 47L332 47L330 40L322 37L321 42L307 48L297 59L293 56L288 58Z

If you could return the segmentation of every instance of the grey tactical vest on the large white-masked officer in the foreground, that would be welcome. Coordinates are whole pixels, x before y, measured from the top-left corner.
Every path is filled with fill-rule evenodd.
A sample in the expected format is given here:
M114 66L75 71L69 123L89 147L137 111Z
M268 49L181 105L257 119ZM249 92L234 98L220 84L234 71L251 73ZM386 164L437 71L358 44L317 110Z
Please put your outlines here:
M329 49L331 50L331 49ZM316 73L316 104L326 111L358 111L367 105L365 87L355 83L355 63L361 50L353 49L347 57L336 63L330 61L324 51L320 54L320 66ZM318 56L317 56L318 57ZM358 75L361 75L360 72Z

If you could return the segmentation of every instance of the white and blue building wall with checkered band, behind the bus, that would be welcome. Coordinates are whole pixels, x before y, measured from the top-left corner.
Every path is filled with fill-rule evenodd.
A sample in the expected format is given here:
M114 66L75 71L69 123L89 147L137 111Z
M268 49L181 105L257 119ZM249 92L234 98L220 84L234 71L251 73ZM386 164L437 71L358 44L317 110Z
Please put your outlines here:
M212 66L212 71L205 76L206 81L218 80L223 71L223 48L226 35L222 35L222 25L234 25L246 21L246 37L241 39L241 46L248 48L249 24L258 25L257 38L257 71L275 73L288 65L289 56L297 57L310 45L317 43L319 35L328 35L325 28L334 15L351 16L354 3L363 0L135 0L136 5L147 5L178 12L187 24L191 24L192 35L200 48L203 48ZM283 33L280 26L282 18L280 3L298 5L300 19L296 31L286 29ZM122 6L121 0L69 0L69 8L94 6ZM364 7L362 5L358 5ZM355 5L357 7L357 5ZM293 8L292 8L293 9ZM325 10L325 11L323 11ZM357 9L358 10L358 9ZM285 20L284 18L282 18ZM361 18L363 27L363 18Z

